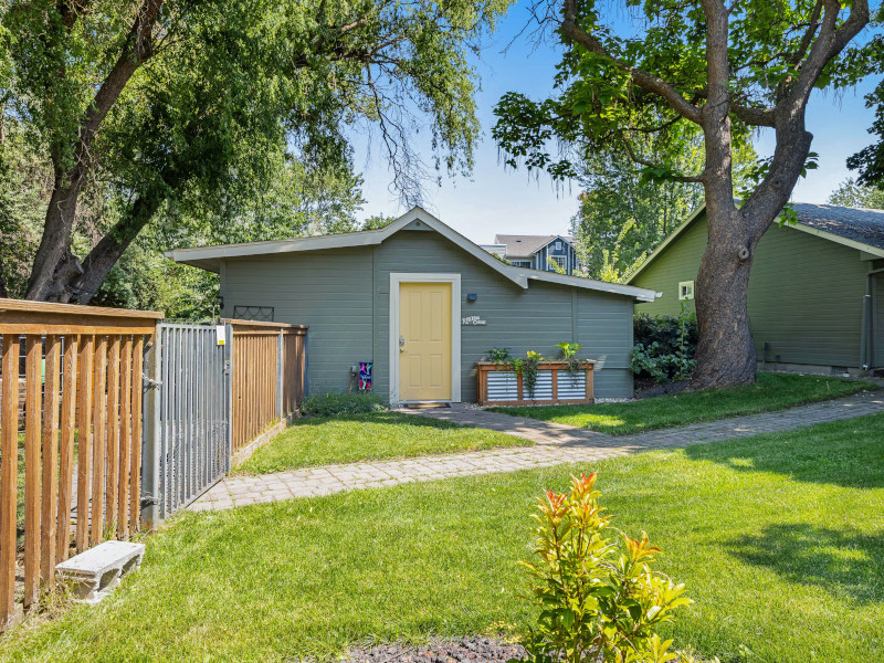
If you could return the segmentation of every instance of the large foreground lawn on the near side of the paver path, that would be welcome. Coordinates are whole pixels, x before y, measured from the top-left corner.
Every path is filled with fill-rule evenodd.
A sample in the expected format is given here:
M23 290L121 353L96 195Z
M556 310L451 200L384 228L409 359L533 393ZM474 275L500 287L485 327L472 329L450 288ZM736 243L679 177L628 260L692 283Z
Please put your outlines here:
M101 607L13 631L0 660L330 660L356 641L520 631L534 499L588 470L614 524L649 532L687 585L695 602L665 629L677 646L724 663L880 661L884 415L186 514Z

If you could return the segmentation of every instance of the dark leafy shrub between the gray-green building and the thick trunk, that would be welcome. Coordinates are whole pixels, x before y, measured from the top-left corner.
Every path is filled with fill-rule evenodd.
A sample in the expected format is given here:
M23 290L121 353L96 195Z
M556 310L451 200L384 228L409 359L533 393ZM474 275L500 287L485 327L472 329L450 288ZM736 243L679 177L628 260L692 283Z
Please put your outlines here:
M696 366L697 318L682 306L677 316L639 314L630 368L639 379L671 382L691 377Z

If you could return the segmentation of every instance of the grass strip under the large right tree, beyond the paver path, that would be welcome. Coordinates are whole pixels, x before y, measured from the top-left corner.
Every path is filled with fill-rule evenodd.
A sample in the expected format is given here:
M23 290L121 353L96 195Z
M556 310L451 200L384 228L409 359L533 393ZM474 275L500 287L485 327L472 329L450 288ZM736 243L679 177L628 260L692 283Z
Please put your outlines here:
M759 373L755 385L675 393L633 402L491 409L514 417L567 423L611 435L628 435L740 414L785 410L875 388L874 382L846 378Z

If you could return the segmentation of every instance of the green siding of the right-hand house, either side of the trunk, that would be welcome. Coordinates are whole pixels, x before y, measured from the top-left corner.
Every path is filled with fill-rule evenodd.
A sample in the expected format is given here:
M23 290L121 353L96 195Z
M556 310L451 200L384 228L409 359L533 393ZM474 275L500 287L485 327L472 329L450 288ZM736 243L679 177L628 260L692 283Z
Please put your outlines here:
M706 245L697 219L632 282L662 297L636 312L677 315L677 286L694 281ZM860 252L778 225L759 242L749 280L749 318L758 358L782 364L860 366L869 263ZM693 311L693 302L686 302Z

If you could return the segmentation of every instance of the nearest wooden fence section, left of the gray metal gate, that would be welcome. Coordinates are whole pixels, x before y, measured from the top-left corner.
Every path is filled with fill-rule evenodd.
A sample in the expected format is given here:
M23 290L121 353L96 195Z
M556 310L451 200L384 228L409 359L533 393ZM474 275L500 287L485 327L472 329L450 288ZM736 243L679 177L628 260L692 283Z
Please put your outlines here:
M143 358L161 317L0 299L0 630L72 548L138 529Z

